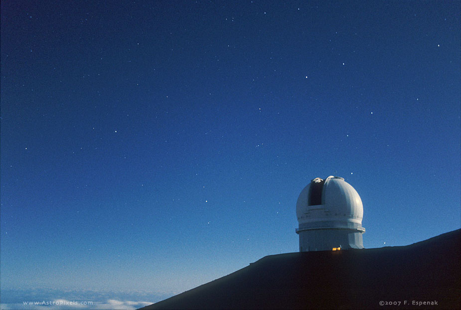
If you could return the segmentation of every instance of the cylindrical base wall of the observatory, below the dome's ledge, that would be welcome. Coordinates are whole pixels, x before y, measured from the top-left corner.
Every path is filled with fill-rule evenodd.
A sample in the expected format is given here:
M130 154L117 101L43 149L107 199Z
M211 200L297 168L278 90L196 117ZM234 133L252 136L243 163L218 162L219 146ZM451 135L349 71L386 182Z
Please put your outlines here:
M363 249L362 232L352 229L309 229L298 232L300 252L331 251L333 248Z

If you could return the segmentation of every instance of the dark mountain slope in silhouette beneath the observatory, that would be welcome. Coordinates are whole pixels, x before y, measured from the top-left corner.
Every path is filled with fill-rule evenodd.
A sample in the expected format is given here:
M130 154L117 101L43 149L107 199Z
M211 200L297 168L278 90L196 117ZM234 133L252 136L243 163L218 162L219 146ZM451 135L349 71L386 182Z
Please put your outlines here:
M455 230L402 247L270 255L142 309L460 309L460 235Z

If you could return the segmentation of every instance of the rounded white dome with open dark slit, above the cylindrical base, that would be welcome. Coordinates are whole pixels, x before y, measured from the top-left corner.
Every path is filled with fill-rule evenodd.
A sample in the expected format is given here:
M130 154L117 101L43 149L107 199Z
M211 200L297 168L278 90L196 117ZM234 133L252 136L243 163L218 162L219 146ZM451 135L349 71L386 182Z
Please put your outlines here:
M363 205L357 191L342 177L314 178L296 203L300 228L356 227L362 229ZM363 229L364 231L364 229Z

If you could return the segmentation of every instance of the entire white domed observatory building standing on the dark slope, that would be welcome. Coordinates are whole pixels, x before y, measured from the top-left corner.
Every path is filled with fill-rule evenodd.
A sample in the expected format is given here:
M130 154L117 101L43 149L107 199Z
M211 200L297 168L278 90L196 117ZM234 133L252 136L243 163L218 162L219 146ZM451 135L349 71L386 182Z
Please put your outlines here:
M300 252L363 249L363 205L344 178L316 177L301 191L296 203Z

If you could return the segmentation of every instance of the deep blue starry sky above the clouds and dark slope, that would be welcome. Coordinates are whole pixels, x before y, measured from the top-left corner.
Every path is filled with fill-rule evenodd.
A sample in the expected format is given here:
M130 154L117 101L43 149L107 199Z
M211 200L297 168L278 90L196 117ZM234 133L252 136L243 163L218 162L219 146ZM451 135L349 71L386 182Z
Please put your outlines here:
M1 1L2 290L193 288L328 175L366 248L460 228L459 1Z

